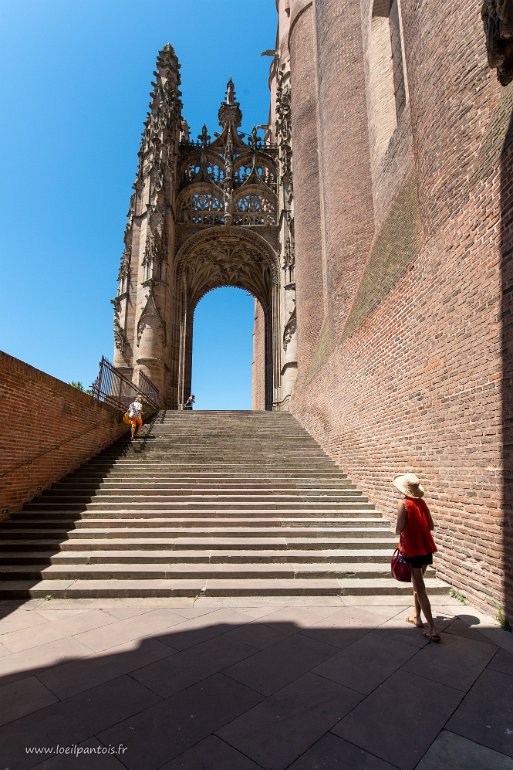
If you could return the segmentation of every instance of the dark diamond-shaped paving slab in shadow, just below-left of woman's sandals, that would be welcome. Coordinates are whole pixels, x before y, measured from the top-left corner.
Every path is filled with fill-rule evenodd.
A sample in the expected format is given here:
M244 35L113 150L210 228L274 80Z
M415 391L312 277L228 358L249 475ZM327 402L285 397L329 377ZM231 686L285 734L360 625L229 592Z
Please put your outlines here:
M375 631L321 663L314 673L368 694L415 652L416 648L410 644L404 644L384 631Z

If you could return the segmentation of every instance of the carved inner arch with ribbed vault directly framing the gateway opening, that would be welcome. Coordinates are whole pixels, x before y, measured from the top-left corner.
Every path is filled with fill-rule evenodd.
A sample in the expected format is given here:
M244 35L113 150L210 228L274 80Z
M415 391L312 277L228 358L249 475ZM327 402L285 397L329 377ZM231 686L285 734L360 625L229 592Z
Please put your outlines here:
M213 227L191 236L177 254L172 347L178 355L171 364L176 402L183 403L191 389L194 310L207 292L222 286L248 291L262 307L265 408L272 409L280 371L278 258L260 235L229 226Z

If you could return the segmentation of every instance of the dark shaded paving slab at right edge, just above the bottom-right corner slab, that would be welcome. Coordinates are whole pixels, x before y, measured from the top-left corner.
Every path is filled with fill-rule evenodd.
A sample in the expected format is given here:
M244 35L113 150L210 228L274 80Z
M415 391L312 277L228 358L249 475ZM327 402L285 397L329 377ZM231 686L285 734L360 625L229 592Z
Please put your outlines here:
M487 668L446 727L513 757L512 703L513 676Z

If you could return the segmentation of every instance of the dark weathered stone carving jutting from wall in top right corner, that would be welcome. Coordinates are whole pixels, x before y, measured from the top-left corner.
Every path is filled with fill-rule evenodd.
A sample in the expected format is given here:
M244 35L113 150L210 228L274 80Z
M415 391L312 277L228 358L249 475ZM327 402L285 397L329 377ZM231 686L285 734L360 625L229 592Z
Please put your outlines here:
M488 64L497 68L497 78L507 86L513 80L513 2L485 0L481 7Z

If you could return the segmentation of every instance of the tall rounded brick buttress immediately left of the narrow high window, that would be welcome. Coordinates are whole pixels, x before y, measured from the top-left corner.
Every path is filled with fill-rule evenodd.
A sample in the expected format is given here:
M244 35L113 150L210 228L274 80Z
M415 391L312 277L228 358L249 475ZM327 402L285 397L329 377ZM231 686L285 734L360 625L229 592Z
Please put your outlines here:
M315 3L315 14L329 351L351 309L374 220L360 14L340 0Z

